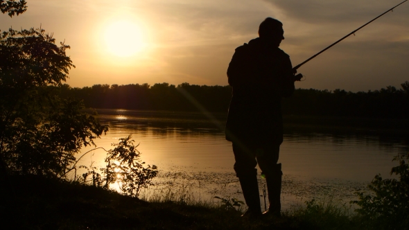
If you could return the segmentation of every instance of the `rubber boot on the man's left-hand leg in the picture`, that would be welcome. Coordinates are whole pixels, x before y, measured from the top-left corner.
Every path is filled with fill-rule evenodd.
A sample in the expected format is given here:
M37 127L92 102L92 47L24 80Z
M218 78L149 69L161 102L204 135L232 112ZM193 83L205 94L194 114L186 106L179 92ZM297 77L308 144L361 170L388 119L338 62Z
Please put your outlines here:
M238 180L240 181L241 189L243 191L245 204L247 204L249 207L241 216L248 218L259 218L261 216L261 204L257 175L238 177Z

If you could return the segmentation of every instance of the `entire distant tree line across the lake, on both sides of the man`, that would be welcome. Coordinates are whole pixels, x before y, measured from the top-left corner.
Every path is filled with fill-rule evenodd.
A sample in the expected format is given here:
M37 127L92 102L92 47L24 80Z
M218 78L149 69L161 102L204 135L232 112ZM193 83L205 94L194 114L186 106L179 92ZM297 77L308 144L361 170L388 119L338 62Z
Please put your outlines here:
M170 111L227 112L232 97L229 86L169 85L94 85L62 86L62 96L84 100L86 107L105 109L142 109ZM375 91L351 92L341 89L296 89L283 99L283 113L310 116L354 116L368 118L409 118L409 82L401 89L386 87Z

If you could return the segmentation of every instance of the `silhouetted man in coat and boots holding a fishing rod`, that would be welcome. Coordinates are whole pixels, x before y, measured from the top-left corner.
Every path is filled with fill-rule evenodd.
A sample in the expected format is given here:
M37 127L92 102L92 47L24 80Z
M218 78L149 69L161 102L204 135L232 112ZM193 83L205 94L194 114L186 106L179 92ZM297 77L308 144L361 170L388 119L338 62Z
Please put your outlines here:
M227 69L233 87L226 139L232 141L234 170L249 209L243 216L261 215L256 165L266 177L267 213L280 215L281 163L283 142L281 98L295 90L290 57L279 48L284 39L283 24L271 17L261 22L259 37L236 48Z

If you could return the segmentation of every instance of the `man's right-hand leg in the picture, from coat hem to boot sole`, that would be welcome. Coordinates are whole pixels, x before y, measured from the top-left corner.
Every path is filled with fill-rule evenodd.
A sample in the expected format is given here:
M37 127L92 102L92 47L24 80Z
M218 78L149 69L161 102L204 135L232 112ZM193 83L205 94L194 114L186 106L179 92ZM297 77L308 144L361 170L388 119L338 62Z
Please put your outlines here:
M262 174L266 176L268 189L268 211L273 215L280 215L281 211L281 163L277 163L279 159L279 145L270 145L256 154L257 161L262 170Z

